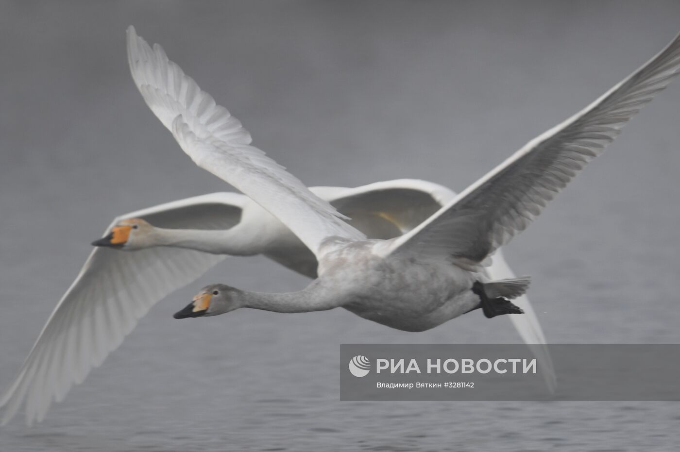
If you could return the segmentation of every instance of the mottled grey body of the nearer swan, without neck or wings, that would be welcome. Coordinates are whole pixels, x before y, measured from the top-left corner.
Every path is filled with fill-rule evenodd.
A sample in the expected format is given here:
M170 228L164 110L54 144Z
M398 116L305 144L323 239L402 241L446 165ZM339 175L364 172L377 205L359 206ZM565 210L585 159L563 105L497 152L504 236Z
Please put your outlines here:
M320 280L327 293L343 295L331 299L364 319L413 332L435 328L479 305L470 288L475 281L489 281L483 268L471 272L438 262L415 264L406 256L384 259L376 252L382 245L371 240L326 245L338 249L320 260ZM347 281L356 281L351 291Z

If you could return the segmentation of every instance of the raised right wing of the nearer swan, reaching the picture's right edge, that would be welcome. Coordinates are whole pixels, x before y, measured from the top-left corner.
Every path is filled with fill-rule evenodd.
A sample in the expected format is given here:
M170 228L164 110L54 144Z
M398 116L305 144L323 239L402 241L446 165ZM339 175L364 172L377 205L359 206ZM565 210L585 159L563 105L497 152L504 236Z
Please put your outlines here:
M680 35L579 114L529 141L388 252L481 262L541 213L679 73Z

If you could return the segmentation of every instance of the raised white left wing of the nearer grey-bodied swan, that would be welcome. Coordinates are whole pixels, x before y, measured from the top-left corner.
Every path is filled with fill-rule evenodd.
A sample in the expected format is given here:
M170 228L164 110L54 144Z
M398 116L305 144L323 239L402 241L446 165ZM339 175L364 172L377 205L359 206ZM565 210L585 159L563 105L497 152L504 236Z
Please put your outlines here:
M226 108L184 74L158 44L127 31L130 69L147 105L199 167L224 179L275 215L318 254L327 237L364 239L343 215L265 153Z

